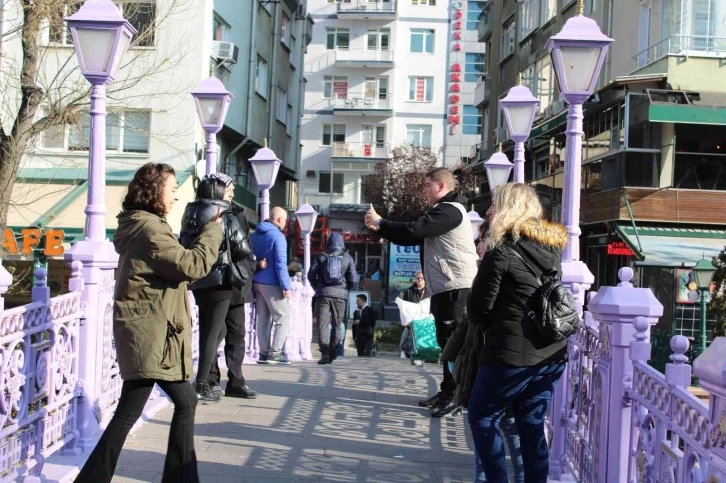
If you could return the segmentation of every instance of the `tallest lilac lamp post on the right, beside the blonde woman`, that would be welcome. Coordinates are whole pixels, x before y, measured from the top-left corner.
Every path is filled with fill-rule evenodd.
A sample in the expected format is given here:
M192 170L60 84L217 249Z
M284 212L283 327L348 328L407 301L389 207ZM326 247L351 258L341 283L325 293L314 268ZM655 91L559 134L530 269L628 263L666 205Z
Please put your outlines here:
M580 314L583 295L595 280L587 265L580 261L580 176L584 134L582 104L592 95L608 48L613 42L613 39L603 35L594 20L583 15L584 11L584 0L579 0L577 15L570 18L560 33L547 42L557 84L569 104L565 184L562 193L562 220L569 240L562 253L562 282L570 287ZM566 411L568 383L569 381L561 380L555 387L552 398L550 416L558 426L551 442L550 474L556 477L563 472L560 461L565 454L565 428L561 421Z

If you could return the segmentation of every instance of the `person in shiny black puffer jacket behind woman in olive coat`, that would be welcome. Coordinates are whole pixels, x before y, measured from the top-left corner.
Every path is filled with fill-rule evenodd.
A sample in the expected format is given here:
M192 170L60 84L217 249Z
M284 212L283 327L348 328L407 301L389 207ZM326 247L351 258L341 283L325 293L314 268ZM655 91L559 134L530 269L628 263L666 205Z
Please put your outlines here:
M209 213L223 210L222 226L225 240L217 263L201 280L192 283L194 299L199 306L199 364L196 390L205 403L218 402L222 397L219 383L218 350L222 340L229 369L227 393L236 397L256 397L255 391L244 383L244 305L233 304L235 292L250 290L254 273L254 255L249 244L247 220L232 208L234 180L224 173L205 176L197 187L196 201L189 203L182 218L179 240L188 246L198 236ZM240 340L241 338L241 340ZM215 376L212 377L213 368Z

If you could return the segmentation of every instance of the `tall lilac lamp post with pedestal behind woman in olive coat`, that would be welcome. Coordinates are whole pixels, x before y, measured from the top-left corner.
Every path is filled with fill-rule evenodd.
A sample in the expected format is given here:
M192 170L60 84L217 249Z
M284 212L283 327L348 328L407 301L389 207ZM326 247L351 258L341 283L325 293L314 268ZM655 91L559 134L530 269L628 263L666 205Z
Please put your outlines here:
M78 403L77 417L79 447L87 450L100 435L101 422L110 417L115 402L112 394L120 384L110 370L113 271L118 255L106 238L106 85L116 77L136 30L111 0L88 0L65 21L81 73L93 86L85 236L66 254L68 261L83 262L85 280L82 303L86 306L86 322L80 328L79 361L83 398Z

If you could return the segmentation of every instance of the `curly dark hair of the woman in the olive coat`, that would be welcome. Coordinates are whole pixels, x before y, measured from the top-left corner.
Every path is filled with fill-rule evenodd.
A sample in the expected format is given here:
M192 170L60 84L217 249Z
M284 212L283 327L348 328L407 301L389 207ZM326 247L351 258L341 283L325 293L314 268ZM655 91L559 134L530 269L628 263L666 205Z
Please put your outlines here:
M169 176L176 176L174 168L163 163L148 163L136 171L129 183L129 191L121 205L124 210L148 211L164 216L162 196Z

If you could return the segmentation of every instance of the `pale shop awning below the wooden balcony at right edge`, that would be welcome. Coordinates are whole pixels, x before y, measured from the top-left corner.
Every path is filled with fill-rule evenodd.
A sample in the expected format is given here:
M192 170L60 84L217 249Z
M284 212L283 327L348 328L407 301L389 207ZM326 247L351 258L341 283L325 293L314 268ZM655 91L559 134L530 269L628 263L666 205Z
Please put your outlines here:
M617 223L615 230L638 258L636 265L692 267L717 256L726 246L726 230L638 226Z

